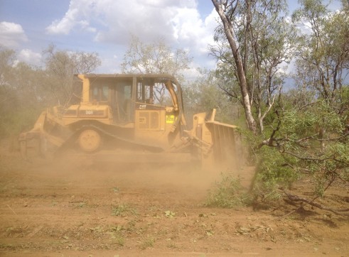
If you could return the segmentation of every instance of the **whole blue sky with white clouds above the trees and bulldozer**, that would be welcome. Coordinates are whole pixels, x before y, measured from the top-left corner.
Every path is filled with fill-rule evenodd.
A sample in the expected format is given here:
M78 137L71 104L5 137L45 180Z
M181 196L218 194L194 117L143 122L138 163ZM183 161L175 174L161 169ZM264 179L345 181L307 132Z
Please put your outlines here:
M296 0L289 0L295 8ZM0 45L41 65L49 44L98 53L97 72L120 72L131 34L145 43L164 38L188 51L193 67L212 68L208 55L218 14L210 0L0 0Z

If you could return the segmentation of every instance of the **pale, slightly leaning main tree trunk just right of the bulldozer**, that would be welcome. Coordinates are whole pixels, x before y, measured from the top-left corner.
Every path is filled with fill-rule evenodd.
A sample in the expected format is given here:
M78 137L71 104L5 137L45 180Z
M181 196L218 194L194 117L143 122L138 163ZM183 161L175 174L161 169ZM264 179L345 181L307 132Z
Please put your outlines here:
M257 133L257 124L252 116L251 104L249 102L249 94L247 90L245 70L243 67L242 58L241 58L239 49L237 48L237 44L233 37L232 23L230 22L229 18L225 15L222 4L218 4L218 0L212 0L212 2L213 2L213 5L215 6L215 10L218 12L220 19L222 20L225 35L227 36L227 40L229 42L230 48L232 49L232 55L234 56L235 65L237 67L237 77L239 80L240 90L241 90L242 99L243 99L243 106L245 109L247 126L249 128L249 131L252 131L253 133Z

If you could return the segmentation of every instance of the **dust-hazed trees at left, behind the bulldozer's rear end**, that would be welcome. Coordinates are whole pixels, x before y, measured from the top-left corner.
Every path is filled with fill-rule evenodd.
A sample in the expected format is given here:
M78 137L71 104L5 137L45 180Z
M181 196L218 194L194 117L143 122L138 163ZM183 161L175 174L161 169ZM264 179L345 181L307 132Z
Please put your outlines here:
M0 139L33 127L48 106L73 97L73 74L92 72L100 65L95 53L45 50L45 67L16 60L16 52L0 47Z

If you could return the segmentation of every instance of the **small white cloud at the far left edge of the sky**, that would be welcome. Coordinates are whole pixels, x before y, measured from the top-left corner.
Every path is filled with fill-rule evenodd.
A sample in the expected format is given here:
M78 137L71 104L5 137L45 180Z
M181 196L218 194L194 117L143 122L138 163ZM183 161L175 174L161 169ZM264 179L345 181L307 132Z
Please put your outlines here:
M28 41L21 25L11 22L0 22L0 45L17 48L21 42Z

